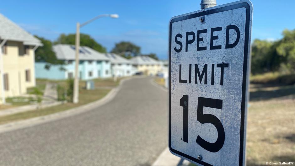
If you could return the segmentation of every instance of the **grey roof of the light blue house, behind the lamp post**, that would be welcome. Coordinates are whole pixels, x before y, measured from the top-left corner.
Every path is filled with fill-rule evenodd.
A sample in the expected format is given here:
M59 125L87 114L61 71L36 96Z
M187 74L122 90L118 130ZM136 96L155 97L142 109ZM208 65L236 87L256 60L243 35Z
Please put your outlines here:
M58 44L53 46L53 51L55 52L57 59L75 60L76 50L74 45ZM80 46L79 59L88 61L109 61L103 53L97 52L87 46Z

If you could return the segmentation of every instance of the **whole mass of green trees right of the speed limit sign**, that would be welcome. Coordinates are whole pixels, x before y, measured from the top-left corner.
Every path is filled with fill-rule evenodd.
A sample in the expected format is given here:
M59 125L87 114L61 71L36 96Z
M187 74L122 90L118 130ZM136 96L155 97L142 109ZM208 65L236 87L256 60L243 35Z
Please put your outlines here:
M253 74L295 71L295 29L284 30L277 41L254 40L252 44L251 72Z

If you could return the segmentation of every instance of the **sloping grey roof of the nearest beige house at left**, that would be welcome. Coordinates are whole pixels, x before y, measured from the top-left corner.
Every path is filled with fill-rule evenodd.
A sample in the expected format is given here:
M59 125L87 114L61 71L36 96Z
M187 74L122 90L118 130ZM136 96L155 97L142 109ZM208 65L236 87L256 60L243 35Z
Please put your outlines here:
M41 41L27 31L0 14L0 38L12 41L21 41L24 45L43 46Z

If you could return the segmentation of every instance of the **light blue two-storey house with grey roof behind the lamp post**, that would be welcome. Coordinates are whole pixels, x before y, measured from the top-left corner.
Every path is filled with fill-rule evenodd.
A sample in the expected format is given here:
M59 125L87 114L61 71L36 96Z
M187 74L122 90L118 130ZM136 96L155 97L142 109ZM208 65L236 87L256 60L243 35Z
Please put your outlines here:
M63 80L75 77L75 46L58 44L53 46L53 51L59 60L65 65L51 65L49 70L45 67L46 62L35 62L36 78ZM81 46L79 53L79 73L82 80L94 78L109 78L111 74L111 63L105 54L99 53L89 47Z

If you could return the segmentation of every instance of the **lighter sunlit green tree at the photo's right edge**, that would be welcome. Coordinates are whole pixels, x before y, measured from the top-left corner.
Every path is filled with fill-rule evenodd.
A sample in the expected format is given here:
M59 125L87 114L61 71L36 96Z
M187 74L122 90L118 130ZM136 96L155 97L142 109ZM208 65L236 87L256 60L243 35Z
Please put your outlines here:
M290 72L295 71L295 29L283 31L283 38L276 45L276 53L283 60L285 66Z

